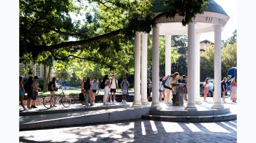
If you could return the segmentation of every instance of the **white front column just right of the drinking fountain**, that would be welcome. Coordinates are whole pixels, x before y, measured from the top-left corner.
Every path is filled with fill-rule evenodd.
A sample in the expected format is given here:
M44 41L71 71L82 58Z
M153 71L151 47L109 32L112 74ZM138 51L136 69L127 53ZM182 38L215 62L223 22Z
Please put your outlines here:
M187 48L187 82L188 82L188 103L185 109L187 110L195 110L195 23L188 24L188 48ZM197 83L199 84L199 82Z

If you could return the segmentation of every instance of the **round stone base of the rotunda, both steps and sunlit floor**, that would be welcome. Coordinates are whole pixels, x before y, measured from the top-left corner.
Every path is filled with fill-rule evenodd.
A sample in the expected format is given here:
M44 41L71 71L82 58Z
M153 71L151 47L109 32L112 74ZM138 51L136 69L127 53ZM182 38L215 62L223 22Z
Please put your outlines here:
M201 123L236 120L236 103L227 102L223 109L212 109L213 102L195 104L197 110L186 110L184 106L170 106L160 103L162 109L150 109L148 115L143 115L145 120L162 120L170 122Z

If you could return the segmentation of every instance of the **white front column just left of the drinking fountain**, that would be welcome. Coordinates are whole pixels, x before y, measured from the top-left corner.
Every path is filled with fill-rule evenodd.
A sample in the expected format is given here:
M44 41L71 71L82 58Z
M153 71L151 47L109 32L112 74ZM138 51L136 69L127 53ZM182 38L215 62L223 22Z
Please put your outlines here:
M159 24L153 28L152 42L152 104L150 109L162 109L159 104Z

